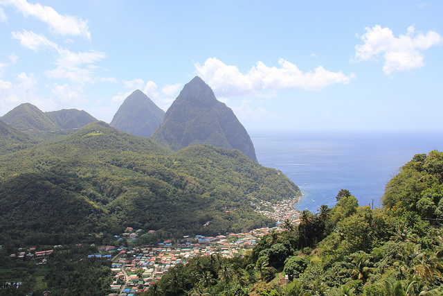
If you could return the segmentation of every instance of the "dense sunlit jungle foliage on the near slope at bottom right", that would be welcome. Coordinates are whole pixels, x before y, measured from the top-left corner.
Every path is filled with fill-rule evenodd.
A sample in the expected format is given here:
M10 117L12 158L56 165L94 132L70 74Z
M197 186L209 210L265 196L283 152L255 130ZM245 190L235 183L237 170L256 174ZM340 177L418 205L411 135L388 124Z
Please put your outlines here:
M382 209L342 189L334 208L302 211L246 256L197 257L145 295L442 295L442 176L443 153L415 155Z

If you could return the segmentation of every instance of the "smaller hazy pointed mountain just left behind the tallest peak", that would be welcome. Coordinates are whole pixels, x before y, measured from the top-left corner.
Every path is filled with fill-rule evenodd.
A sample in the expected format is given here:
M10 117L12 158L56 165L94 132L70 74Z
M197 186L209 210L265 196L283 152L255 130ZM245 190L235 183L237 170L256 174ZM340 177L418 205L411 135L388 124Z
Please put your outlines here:
M122 132L149 138L164 116L165 112L137 89L118 108L110 125Z

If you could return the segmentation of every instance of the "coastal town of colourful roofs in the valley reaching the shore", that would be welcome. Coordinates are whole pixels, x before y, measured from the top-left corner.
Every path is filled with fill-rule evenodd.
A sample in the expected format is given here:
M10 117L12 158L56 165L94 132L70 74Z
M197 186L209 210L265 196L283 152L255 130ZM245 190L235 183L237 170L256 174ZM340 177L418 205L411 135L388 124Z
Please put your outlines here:
M260 202L257 204L257 212L273 218L277 225L284 220L291 220L296 225L300 212L294 209L296 199L283 200L276 203ZM114 245L100 246L98 254L90 254L89 257L105 257L112 261L114 281L111 285L113 293L109 296L132 296L137 292L143 292L156 283L168 272L169 268L179 263L186 264L195 256L219 256L232 257L242 256L248 249L253 248L260 238L273 229L279 231L278 226L269 228L253 229L250 232L238 234L226 234L219 236L184 236L179 241L167 240L158 245L145 245L138 247L116 247ZM142 229L127 227L125 233L118 236L118 240L127 240L136 243L137 238L143 234L154 234L154 230L143 232ZM62 249L62 245L54 246L53 250L36 252L35 248L21 250L17 254L10 254L11 258L23 258L31 256L40 264L46 263L48 256ZM19 283L17 283L19 284Z

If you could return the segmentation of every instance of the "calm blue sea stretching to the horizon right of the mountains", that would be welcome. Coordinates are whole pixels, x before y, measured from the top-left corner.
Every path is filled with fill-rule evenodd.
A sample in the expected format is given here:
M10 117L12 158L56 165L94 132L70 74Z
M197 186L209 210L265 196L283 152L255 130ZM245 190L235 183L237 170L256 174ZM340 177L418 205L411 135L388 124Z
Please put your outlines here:
M304 196L296 208L316 213L333 207L340 189L360 205L381 207L385 185L417 153L443 151L443 132L258 133L251 137L258 162L277 168Z

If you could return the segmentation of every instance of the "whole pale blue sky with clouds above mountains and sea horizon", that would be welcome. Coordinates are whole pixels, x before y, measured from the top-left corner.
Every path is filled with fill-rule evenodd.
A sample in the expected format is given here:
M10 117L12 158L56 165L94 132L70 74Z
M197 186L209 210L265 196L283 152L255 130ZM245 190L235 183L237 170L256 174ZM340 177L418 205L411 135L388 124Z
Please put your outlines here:
M0 116L200 76L248 131L443 130L443 1L0 0Z

